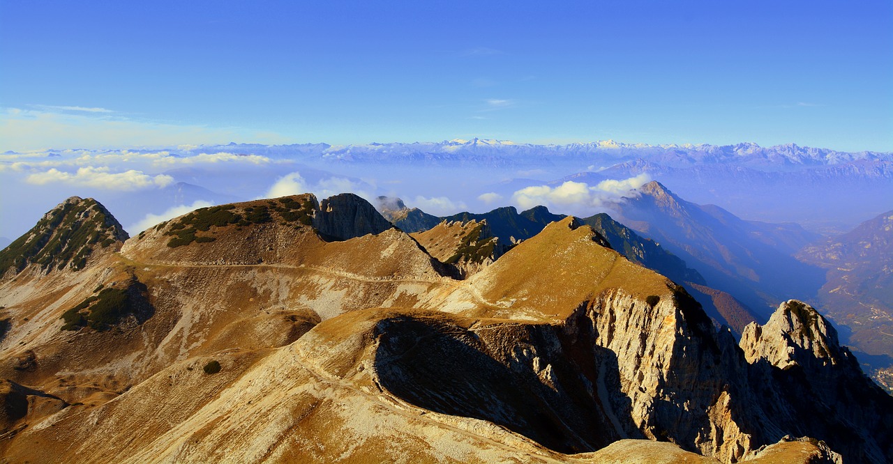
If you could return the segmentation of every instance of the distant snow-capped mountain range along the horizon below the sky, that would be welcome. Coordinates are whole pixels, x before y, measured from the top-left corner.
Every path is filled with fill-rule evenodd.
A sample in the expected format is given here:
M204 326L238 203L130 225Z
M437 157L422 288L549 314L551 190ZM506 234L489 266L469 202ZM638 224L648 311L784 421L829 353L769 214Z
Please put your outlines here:
M195 150L246 152L272 157L321 158L345 163L465 162L476 165L552 165L590 160L611 164L638 159L669 167L728 164L754 170L796 170L851 162L891 162L893 153L847 153L796 144L763 147L735 145L647 145L605 140L567 145L517 144L504 140L472 138L443 142L371 143L364 145L202 145ZM601 167L606 167L602 165Z

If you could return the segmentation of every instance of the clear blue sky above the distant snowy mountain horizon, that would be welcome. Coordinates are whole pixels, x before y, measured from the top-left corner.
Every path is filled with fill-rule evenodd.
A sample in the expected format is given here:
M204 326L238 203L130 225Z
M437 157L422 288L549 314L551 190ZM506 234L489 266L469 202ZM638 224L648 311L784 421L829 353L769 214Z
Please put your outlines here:
M893 151L893 2L0 0L0 150L794 142Z

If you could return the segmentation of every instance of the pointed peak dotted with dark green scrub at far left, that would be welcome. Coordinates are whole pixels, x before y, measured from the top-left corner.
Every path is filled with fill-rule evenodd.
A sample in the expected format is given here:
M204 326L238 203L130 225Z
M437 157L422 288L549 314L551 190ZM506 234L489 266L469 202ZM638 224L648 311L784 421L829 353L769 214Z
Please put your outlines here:
M83 269L91 256L116 252L127 238L127 232L102 204L72 196L0 251L0 280L28 267L35 272Z

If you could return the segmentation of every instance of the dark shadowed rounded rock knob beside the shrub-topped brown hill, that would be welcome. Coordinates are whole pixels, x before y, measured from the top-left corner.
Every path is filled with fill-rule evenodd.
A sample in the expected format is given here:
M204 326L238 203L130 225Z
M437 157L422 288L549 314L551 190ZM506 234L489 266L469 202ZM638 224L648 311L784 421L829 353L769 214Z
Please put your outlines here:
M379 234L392 227L371 204L354 194L322 200L319 213L313 216L313 228L334 240Z

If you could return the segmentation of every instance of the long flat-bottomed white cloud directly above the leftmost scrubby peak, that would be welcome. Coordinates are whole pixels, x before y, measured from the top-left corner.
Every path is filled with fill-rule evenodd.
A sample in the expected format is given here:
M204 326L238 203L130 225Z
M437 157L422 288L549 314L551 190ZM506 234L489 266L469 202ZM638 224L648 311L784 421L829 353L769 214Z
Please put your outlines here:
M111 172L107 167L86 166L79 168L74 173L53 168L45 172L31 174L25 178L25 181L38 186L63 182L74 186L92 186L108 190L139 190L153 186L168 186L173 182L173 178L165 174L153 177L139 170Z

